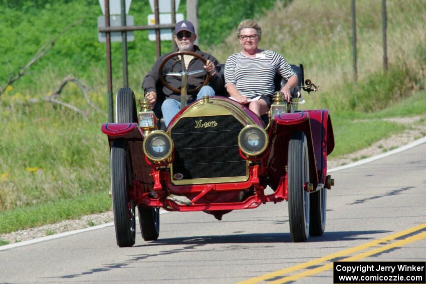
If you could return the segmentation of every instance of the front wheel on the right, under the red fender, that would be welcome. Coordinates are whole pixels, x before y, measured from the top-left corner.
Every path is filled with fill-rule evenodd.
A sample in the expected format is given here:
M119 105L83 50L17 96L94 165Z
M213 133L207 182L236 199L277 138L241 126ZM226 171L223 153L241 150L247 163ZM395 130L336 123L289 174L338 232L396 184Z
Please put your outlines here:
M309 192L304 190L304 184L309 182L308 143L305 133L293 133L288 151L290 234L294 242L303 242L309 237Z

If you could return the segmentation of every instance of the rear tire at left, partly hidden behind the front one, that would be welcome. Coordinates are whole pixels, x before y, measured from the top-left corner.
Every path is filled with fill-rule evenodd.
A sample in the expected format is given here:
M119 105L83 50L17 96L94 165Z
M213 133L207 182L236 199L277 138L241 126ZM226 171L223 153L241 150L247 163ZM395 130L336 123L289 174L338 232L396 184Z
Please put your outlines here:
M138 205L140 232L144 240L156 240L160 233L160 208Z

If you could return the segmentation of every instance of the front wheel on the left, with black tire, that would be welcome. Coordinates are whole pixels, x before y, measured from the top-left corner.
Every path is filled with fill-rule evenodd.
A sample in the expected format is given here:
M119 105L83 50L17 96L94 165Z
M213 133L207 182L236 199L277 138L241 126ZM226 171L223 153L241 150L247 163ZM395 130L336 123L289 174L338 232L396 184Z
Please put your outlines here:
M131 183L129 146L126 140L117 139L111 147L111 189L115 236L119 247L132 246L135 243L135 206L127 192Z

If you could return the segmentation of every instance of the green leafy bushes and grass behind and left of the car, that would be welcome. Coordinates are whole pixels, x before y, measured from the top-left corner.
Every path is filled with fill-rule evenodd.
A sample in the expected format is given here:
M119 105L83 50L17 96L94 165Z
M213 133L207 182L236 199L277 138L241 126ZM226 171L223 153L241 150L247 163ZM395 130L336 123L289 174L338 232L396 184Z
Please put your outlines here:
M283 0L285 2L285 0ZM275 0L199 4L200 44L205 48L223 41L240 19L261 15ZM20 71L43 43L67 25L83 19L55 43L0 97L0 234L109 210L109 149L100 132L106 117L92 113L85 120L67 108L30 99L48 96L68 74L91 86L89 97L106 111L105 44L98 43L96 25L101 10L97 2L0 0L0 86ZM185 1L179 13L184 14ZM134 2L130 15L136 25L146 25L147 3ZM128 44L129 85L140 96L140 81L155 60L155 43L148 32L136 32ZM168 52L170 42L162 43ZM121 44L112 43L114 92L121 85ZM87 109L73 84L61 100ZM1 240L0 240L1 243Z

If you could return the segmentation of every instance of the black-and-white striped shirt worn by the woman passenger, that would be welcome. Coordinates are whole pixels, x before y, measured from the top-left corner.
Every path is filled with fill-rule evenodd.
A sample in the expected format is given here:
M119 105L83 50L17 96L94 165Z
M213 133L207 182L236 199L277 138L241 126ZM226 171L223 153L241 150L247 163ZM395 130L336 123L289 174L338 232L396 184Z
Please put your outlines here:
M257 57L235 53L225 64L225 86L232 83L241 95L249 98L273 96L276 73L286 80L295 75L290 64L272 50L265 50Z

